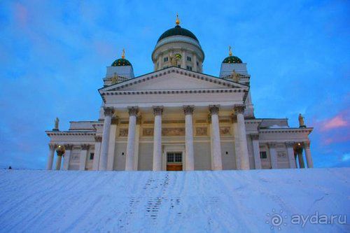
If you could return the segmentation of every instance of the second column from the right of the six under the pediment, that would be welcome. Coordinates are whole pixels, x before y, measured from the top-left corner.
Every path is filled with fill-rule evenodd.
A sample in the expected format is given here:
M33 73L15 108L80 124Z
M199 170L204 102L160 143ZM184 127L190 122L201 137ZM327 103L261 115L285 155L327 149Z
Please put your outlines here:
M212 153L211 153L211 169L212 170L222 170L223 162L221 160L221 139L220 139L220 128L218 122L218 111L219 107L217 105L209 106L209 111L211 114L211 136L212 136Z

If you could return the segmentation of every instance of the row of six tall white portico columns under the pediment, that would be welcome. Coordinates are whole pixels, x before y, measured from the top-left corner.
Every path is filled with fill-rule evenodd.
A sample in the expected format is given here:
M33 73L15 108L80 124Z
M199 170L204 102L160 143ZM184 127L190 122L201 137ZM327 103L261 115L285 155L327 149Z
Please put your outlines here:
M129 107L129 129L127 135L127 153L125 170L134 171L135 166L135 140L137 133L137 114L139 109L137 106ZM186 155L185 155L185 169L187 171L193 171L195 169L195 157L193 147L193 111L194 106L183 106L183 112L185 114L186 121ZM211 114L211 169L222 170L223 164L221 161L221 139L220 139L220 127L218 120L219 106L209 106L209 112ZM237 105L234 107L234 111L237 115L237 145L240 155L240 169L249 169L248 160L248 148L246 142L246 128L244 125L244 105ZM153 171L162 170L162 106L154 106L154 132L153 132ZM96 158L99 157L99 170L107 169L108 151L109 151L109 137L111 131L111 120L113 116L113 108L104 108L104 129L101 143L101 153L95 152ZM99 148L99 145L96 146ZM113 154L113 151L112 153ZM109 162L110 163L110 162ZM96 167L96 166L94 166Z

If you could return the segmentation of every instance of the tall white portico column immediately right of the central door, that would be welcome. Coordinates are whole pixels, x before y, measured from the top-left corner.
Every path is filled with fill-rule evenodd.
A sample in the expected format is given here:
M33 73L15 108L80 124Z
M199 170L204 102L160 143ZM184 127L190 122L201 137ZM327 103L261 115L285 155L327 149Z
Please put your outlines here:
M195 152L193 149L193 106L183 106L183 112L185 113L186 122L186 139L185 139L185 169L186 171L195 170Z

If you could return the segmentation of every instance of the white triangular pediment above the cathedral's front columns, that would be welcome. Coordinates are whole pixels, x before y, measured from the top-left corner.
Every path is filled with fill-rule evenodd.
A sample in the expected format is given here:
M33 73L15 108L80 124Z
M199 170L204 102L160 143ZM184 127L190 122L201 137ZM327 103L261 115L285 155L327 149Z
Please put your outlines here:
M197 73L177 67L169 67L161 71L155 71L144 76L132 78L123 83L104 87L100 92L138 90L207 90L228 88L248 89L248 86L230 80L209 76L204 73Z

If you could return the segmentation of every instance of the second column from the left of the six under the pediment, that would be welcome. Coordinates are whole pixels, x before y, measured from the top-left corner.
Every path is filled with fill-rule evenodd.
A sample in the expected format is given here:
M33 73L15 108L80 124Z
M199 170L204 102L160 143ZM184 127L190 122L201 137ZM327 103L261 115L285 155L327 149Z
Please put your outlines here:
M125 171L134 171L136 118L139 109L129 107L129 129L127 130L127 157Z

